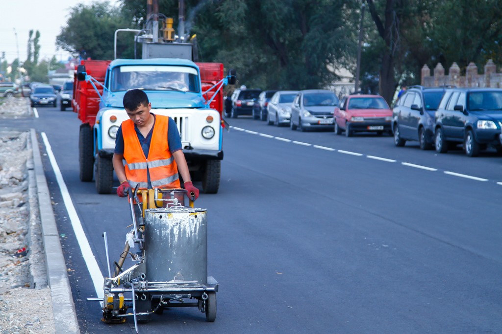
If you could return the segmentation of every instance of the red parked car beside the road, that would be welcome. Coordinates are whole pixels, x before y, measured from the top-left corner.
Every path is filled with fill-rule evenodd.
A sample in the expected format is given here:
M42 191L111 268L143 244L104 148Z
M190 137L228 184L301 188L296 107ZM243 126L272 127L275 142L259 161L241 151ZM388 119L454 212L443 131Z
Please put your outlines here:
M335 133L345 131L347 137L354 132L384 131L392 134L392 109L380 95L348 95L335 107Z

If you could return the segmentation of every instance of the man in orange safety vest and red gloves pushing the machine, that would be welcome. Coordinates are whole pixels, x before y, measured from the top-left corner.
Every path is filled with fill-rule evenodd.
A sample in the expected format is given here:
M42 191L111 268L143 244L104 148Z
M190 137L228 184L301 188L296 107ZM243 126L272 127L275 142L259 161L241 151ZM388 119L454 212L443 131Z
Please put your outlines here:
M123 97L129 120L118 128L113 151L113 169L120 181L117 195L126 197L128 189L181 188L179 174L191 200L199 197L193 186L174 120L150 112L147 94L132 89ZM193 194L193 196L190 196Z

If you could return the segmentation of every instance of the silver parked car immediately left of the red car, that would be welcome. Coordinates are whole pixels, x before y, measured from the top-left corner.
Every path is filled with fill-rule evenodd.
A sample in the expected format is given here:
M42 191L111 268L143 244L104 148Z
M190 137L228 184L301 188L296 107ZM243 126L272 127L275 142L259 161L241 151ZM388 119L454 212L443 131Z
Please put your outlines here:
M333 130L333 113L338 105L335 93L329 90L304 90L298 92L291 105L290 127L300 131L310 129Z

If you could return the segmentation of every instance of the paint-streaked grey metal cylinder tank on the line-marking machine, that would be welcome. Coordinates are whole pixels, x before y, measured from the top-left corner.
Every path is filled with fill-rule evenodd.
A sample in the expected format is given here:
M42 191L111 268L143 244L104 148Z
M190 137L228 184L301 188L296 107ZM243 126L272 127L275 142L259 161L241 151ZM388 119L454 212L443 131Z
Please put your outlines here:
M183 206L145 211L146 278L207 283L207 211Z

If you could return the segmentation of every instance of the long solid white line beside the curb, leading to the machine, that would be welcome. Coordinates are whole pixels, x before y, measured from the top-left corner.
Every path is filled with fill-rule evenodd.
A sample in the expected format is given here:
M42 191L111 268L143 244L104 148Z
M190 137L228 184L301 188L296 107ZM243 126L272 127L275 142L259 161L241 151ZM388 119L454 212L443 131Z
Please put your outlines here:
M42 132L42 139L44 140L45 148L47 150L47 156L49 157L49 161L51 162L52 169L54 170L54 174L56 174L56 180L59 185L59 190L61 191L61 195L63 196L63 202L66 206L66 211L68 212L73 231L75 232L75 237L78 241L78 245L80 246L80 251L82 252L85 264L87 265L87 269L89 270L92 283L94 284L94 289L96 290L97 296L102 298L103 274L101 273L101 270L99 270L96 258L94 257L94 254L92 253L91 247L89 245L89 241L85 236L84 230L82 228L82 223L78 218L75 206L73 206L73 201L71 200L70 193L68 192L66 183L63 180L63 175L61 175L61 171L59 169L56 158L52 153L51 144L49 144L49 140L47 139L45 132Z

